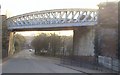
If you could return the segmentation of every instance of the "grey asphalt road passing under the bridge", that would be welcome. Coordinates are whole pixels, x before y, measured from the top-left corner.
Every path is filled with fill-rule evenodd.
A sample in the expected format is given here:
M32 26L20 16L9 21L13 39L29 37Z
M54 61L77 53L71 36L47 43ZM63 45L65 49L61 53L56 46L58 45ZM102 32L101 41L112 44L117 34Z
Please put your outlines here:
M2 64L2 73L81 73L56 63L59 60L35 56L33 52L23 50Z

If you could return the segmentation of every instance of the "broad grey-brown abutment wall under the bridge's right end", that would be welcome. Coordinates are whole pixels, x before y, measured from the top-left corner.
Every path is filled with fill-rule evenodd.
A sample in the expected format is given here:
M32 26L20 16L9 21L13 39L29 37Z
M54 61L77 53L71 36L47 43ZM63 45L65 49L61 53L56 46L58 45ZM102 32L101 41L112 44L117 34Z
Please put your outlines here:
M79 27L74 30L74 56L94 60L94 32L93 27Z

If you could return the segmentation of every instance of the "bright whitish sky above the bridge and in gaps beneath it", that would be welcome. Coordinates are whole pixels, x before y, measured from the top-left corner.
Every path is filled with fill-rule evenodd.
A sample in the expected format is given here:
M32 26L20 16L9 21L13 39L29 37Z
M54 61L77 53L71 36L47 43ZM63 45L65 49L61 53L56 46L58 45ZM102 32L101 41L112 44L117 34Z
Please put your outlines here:
M64 8L98 9L100 2L117 0L0 0L2 15L12 17L24 13ZM21 32L19 32L21 33ZM22 32L23 35L35 35L37 32ZM61 35L72 35L72 31L57 32Z

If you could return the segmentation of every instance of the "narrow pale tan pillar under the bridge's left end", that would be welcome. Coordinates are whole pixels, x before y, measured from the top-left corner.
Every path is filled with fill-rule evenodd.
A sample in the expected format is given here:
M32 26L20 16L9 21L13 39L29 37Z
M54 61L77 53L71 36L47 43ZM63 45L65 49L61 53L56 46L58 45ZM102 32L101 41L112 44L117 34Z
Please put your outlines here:
M8 48L8 56L11 56L15 52L15 47L14 47L14 34L15 32L10 32L9 35L9 48Z

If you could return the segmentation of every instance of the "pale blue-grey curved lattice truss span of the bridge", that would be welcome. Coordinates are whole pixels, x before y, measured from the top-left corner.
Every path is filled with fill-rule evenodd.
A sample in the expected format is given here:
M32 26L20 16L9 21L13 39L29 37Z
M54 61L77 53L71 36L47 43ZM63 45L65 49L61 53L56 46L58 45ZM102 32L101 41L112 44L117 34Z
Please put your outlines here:
M96 9L36 11L7 19L8 29L74 27L97 24Z

